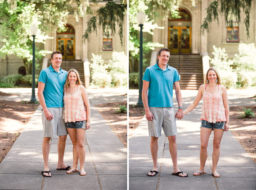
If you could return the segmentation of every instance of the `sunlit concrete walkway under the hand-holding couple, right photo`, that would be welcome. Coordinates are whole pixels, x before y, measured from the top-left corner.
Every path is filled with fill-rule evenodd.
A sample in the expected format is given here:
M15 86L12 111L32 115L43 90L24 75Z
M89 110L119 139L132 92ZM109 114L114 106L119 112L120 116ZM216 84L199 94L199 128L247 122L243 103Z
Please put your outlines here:
M136 92L137 91L137 92ZM129 104L138 101L138 90L129 90ZM255 90L228 90L229 105L255 105L251 97ZM174 93L175 95L175 93ZM183 107L192 103L197 91L182 90ZM173 98L174 109L177 111L177 101ZM202 102L184 119L177 120L177 157L179 169L188 174L187 178L172 175L173 165L169 152L169 142L164 136L158 138L158 171L154 177L146 174L152 170L153 161L150 153L150 137L148 136L147 121L144 117L132 137L129 139L129 189L188 189L188 190L255 190L256 189L256 164L246 153L234 135L224 132L220 145L220 159L217 171L220 178L213 178L212 167L212 142L213 132L208 143L208 159L205 172L201 176L193 176L200 168L200 116Z

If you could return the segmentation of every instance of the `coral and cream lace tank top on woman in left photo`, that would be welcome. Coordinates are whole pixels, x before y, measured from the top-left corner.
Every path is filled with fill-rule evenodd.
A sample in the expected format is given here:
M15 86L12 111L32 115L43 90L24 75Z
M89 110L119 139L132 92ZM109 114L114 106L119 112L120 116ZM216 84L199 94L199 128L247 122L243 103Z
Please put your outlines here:
M78 93L80 85L74 94L67 94L65 89L63 100L64 110L63 119L65 122L84 121L87 119L86 109L84 109L84 100Z

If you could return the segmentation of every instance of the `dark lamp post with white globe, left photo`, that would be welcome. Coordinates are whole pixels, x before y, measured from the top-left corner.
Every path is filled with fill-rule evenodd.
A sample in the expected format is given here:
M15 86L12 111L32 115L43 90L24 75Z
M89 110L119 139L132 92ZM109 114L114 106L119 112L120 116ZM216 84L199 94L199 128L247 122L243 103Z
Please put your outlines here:
M36 36L37 30L38 30L38 27L36 27L34 24L30 27L31 34L33 36L33 61L32 61L32 95L31 95L31 100L29 103L36 102L36 96L35 96L35 36Z

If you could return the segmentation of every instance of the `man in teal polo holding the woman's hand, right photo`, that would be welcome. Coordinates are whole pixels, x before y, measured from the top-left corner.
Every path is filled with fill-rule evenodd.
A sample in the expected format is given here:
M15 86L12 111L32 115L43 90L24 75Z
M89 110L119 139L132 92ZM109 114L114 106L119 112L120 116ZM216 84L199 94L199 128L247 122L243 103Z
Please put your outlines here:
M169 150L173 162L173 175L187 177L181 172L177 165L177 127L176 116L183 118L183 107L181 90L179 87L179 73L177 69L170 67L167 63L170 57L170 50L162 48L158 52L159 62L156 65L146 68L143 76L142 100L148 120L148 132L151 136L150 150L153 159L153 170L147 176L158 174L157 151L158 137L161 136L163 128L165 136L169 140ZM173 85L175 87L176 99L179 109L174 113L172 102ZM148 92L148 93L147 93Z

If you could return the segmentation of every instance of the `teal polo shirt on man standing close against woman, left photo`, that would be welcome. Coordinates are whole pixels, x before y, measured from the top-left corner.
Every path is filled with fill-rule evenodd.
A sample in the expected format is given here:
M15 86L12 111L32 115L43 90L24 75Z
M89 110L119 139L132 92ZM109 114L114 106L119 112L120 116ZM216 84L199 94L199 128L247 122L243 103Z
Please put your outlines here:
M48 108L61 108L63 103L63 89L67 79L67 71L60 68L59 73L52 66L42 69L38 81L45 84L43 95Z

